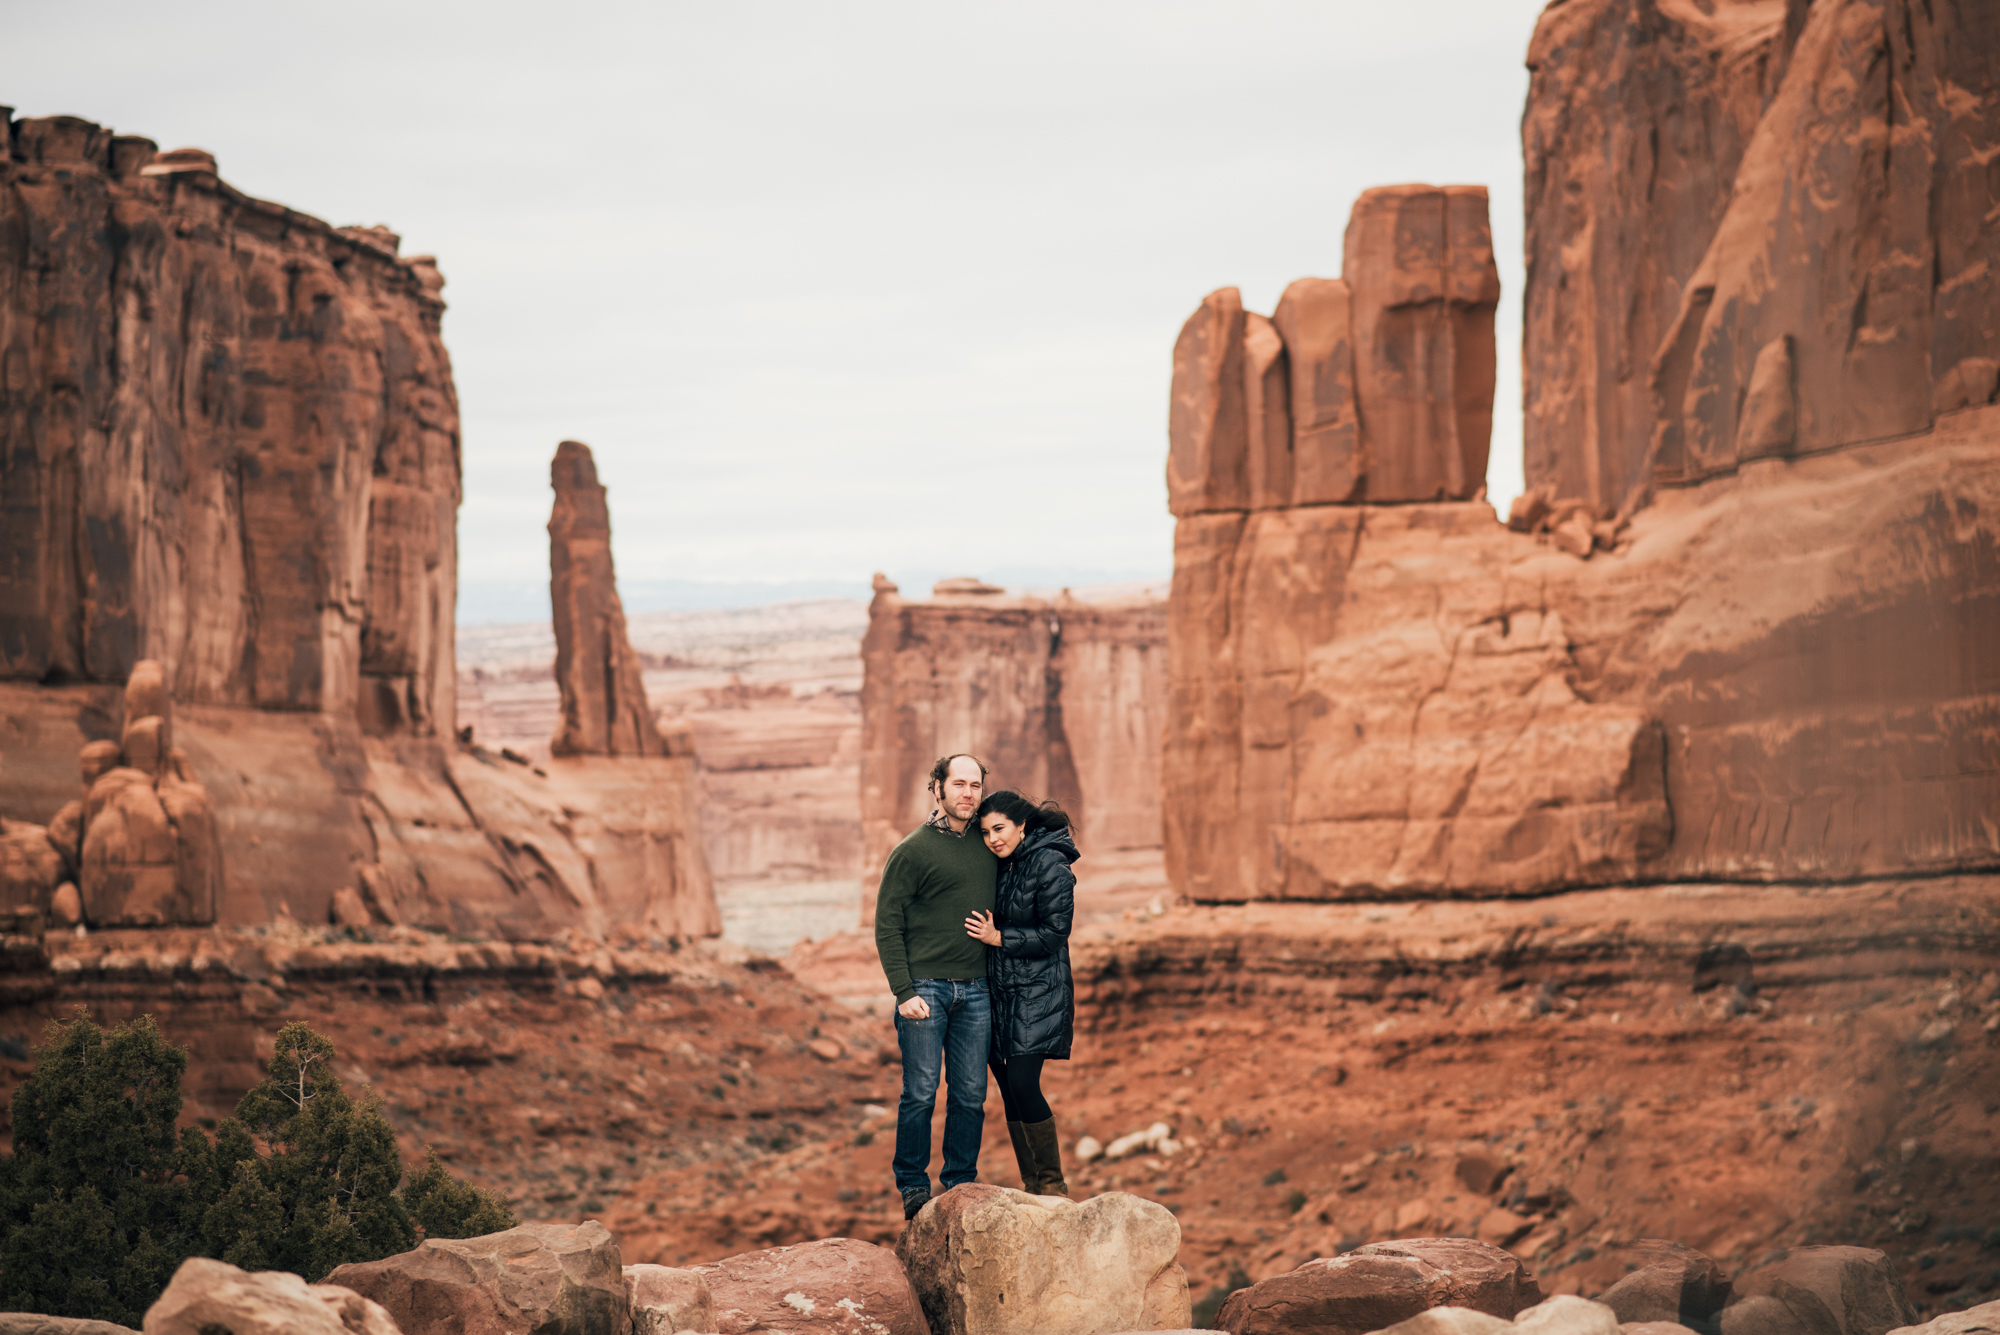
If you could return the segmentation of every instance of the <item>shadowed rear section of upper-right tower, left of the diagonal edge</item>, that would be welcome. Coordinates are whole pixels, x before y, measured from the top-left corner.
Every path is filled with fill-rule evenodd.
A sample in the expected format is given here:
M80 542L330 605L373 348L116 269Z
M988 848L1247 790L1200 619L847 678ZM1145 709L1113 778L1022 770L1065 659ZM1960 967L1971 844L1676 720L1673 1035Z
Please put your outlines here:
M1798 0L1542 12L1522 116L1530 488L1608 514L1642 480L1654 352L1804 14Z

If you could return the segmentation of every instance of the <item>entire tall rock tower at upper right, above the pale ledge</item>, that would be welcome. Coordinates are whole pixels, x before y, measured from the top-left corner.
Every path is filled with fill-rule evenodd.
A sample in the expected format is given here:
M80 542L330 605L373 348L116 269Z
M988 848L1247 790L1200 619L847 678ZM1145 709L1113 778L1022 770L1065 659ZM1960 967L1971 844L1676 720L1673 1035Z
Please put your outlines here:
M1992 6L1588 0L1528 54L1530 488L1924 432L2000 378Z

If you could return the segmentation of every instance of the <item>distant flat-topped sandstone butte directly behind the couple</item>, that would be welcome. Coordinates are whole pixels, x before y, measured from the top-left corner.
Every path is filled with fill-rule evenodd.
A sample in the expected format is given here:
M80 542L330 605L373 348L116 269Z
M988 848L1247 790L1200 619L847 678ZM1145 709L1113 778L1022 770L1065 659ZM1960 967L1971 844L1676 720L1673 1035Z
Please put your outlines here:
M1160 843L1160 600L1016 598L964 580L916 602L876 576L862 673L862 923L882 861L930 815L930 765L948 751L984 759L988 791L1060 801L1086 849Z

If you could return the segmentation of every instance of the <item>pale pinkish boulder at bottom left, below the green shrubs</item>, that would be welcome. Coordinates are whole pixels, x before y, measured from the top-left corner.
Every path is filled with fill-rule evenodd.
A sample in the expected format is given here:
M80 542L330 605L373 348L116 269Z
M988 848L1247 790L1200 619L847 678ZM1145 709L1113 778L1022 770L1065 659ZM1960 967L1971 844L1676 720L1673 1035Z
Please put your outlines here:
M306 1283L286 1271L240 1271L208 1257L180 1263L166 1293L146 1309L144 1329L146 1335L402 1335L386 1311L352 1289Z

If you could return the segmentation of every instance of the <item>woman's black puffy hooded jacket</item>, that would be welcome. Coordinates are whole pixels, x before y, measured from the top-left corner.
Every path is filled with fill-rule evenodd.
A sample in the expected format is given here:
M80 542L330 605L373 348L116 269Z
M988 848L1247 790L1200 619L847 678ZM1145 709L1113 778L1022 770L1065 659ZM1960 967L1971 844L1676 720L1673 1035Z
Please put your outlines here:
M1076 913L1076 843L1068 829L1034 829L1000 863L994 925L986 947L994 1057L1068 1057L1076 1027L1070 983L1070 919Z

